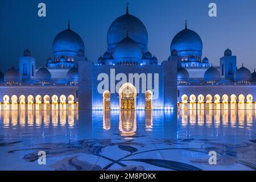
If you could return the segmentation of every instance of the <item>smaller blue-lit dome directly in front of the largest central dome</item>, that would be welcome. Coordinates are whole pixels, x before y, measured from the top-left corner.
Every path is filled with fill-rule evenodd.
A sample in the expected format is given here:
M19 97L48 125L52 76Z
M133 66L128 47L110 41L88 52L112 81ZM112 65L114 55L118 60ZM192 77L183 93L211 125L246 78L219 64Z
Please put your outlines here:
M133 39L126 37L115 47L113 57L114 59L142 59L142 51Z

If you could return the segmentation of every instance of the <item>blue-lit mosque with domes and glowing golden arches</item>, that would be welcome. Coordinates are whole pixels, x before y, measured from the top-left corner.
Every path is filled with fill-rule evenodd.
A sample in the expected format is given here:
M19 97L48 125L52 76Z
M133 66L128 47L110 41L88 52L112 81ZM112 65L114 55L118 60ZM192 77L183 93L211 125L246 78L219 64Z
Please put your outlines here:
M256 72L237 68L230 49L211 65L187 22L164 61L152 56L147 29L128 7L110 25L107 42L103 56L90 61L69 23L43 67L26 49L18 67L0 73L1 110L256 109Z

